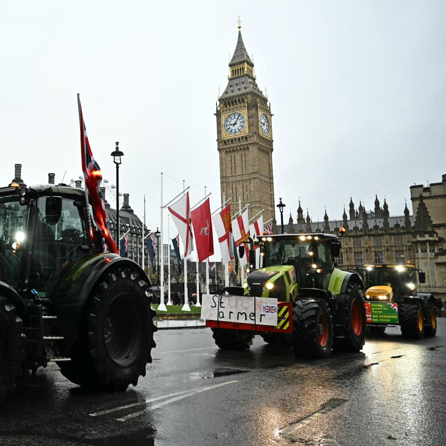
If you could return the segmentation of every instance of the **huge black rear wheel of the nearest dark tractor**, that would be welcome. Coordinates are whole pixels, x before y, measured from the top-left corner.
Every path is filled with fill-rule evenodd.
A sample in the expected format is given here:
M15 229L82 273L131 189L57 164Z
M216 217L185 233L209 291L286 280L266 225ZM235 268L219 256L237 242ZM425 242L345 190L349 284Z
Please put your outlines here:
M71 361L58 363L64 376L90 390L136 386L155 347L155 311L146 289L130 270L115 270L98 283Z

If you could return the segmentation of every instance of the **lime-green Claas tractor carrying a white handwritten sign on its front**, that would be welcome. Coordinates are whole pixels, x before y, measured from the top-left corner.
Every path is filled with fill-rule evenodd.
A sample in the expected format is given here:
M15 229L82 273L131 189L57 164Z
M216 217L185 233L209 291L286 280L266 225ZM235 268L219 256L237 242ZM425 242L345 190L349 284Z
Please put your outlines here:
M254 259L252 239L250 244L249 258ZM262 267L256 270L251 264L243 287L225 289L227 294L258 300L247 320L241 310L249 307L247 299L204 299L206 325L217 346L249 349L259 334L268 343L291 343L297 357L327 358L332 349L360 351L366 337L364 285L357 274L337 268L334 258L340 246L331 234L262 236L257 242ZM240 255L242 251L244 247ZM233 311L217 311L228 306ZM262 316L267 320L271 312L277 314L277 325L261 325Z

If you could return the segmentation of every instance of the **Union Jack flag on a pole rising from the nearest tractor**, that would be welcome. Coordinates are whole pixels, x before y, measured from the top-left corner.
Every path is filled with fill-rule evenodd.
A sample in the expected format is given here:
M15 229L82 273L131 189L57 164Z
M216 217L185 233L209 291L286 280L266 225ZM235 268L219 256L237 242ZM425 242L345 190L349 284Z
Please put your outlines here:
M115 242L113 241L107 223L105 213L105 204L102 192L100 191L100 182L102 181L102 172L99 165L93 158L90 143L88 142L87 130L80 107L79 95L77 95L77 107L79 109L80 124L80 154L82 156L82 171L84 172L85 188L90 195L90 204L93 209L94 221L102 236L105 238L110 252L118 253Z

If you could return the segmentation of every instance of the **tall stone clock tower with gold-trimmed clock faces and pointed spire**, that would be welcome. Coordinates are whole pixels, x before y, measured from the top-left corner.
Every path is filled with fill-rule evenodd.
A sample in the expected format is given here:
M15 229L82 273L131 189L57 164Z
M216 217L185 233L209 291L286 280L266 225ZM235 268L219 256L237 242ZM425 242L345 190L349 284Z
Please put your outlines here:
M258 88L254 64L241 38L229 63L228 85L216 107L217 148L222 201L231 198L231 214L247 204L249 217L262 209L274 217L273 132L271 107Z

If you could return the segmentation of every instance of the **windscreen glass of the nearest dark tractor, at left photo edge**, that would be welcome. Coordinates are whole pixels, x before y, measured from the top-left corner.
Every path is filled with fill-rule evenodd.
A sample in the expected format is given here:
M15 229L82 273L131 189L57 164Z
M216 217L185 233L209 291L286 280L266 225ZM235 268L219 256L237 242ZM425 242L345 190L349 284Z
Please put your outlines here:
M11 202L0 203L0 280L12 287L18 281L26 213L26 206L18 204L18 196L11 197Z

